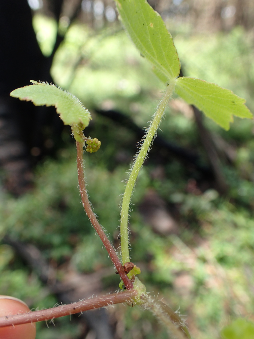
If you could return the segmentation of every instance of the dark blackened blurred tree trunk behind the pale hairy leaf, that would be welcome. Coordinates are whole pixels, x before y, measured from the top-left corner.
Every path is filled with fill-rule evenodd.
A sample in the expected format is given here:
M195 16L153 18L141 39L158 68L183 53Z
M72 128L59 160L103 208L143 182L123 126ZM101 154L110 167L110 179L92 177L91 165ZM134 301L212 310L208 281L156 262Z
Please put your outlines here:
M56 118L9 93L29 85L30 79L51 82L52 57L41 53L27 0L0 1L0 29L0 167L5 188L20 195L31 185L31 163L43 153L43 125Z

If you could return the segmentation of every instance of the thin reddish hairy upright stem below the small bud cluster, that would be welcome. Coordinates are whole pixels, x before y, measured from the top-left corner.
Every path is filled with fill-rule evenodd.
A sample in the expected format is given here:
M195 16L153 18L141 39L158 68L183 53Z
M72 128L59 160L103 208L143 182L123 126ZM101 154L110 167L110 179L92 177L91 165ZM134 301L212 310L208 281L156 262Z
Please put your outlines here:
M77 145L77 167L78 167L78 178L79 178L79 190L81 194L82 204L84 206L84 209L86 211L86 214L88 218L91 221L91 224L95 228L96 232L98 233L99 237L101 238L106 250L108 251L108 254L115 265L115 268L119 272L119 275L121 279L123 280L127 290L131 290L133 288L132 282L128 278L127 274L123 270L123 266L115 253L115 250L113 246L111 245L110 241L108 240L106 234L104 233L101 225L99 224L99 221L97 220L96 216L94 215L92 211L92 207L90 205L87 192L86 192L86 186L85 186L85 178L84 178L84 168L83 168L83 145L79 141L76 141Z

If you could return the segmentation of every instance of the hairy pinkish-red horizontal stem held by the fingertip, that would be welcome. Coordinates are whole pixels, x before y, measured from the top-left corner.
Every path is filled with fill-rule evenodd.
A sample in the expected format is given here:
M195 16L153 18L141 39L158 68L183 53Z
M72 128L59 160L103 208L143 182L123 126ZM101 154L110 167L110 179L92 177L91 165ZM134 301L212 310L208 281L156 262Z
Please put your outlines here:
M63 317L70 314L75 314L83 311L88 311L93 308L99 308L112 304L119 304L126 301L131 301L136 296L135 291L125 293L114 293L106 296L82 300L68 305L59 305L57 307L48 308L48 310L34 311L29 313L22 313L11 316L0 317L0 327L14 326L26 324L30 322L37 322L43 320L50 320Z

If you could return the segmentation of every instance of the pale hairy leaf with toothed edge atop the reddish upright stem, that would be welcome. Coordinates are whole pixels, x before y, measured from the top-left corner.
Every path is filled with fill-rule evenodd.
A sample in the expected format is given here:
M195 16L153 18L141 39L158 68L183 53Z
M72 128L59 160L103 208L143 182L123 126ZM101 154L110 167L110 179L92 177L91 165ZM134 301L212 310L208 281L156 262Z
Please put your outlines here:
M82 129L88 126L91 115L75 95L55 85L30 81L33 85L17 88L10 96L32 101L36 106L55 106L65 125L80 124Z

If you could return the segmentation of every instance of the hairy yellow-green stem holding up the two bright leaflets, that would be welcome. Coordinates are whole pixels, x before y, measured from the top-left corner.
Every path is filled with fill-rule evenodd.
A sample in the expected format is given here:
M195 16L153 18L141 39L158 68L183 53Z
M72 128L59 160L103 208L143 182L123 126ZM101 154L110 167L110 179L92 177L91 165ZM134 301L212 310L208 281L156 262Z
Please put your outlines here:
M149 126L149 129L147 131L147 134L145 136L145 139L139 151L139 154L137 155L136 160L132 166L129 179L125 187L122 209L121 209L121 223L120 223L121 253L122 253L123 264L130 261L129 241L128 241L129 240L128 239L128 216L129 216L129 204L130 204L130 198L132 195L132 191L135 185L136 178L140 173L140 169L143 165L143 162L145 161L147 152L151 146L154 135L156 134L157 128L164 115L168 101L170 100L172 96L174 86L175 86L174 81L169 83L160 103L157 106L153 120Z

